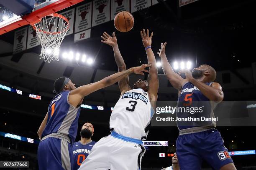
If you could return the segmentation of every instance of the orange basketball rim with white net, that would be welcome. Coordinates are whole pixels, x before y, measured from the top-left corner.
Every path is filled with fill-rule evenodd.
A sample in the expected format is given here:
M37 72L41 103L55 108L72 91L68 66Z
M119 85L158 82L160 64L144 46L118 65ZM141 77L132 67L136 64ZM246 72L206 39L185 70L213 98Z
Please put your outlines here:
M59 61L59 47L69 30L69 20L60 14L53 13L31 25L41 40L40 59L44 58L45 62Z

